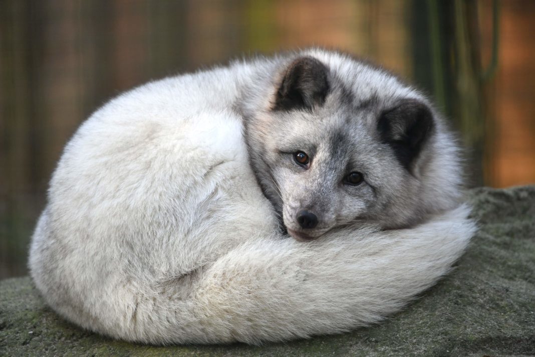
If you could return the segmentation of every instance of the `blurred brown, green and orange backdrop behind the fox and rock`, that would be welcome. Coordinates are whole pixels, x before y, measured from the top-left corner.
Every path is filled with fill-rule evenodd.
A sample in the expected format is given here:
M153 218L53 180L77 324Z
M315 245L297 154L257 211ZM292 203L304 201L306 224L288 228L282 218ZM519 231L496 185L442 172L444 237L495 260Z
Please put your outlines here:
M143 82L320 45L378 62L434 98L470 185L535 182L532 0L0 0L0 278L29 238L65 142Z

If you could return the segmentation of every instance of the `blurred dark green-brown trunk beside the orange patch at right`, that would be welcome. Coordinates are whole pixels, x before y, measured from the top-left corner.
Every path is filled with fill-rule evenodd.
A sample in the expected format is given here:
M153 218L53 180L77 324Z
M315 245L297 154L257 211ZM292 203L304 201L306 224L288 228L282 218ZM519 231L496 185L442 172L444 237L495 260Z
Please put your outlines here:
M484 105L488 92L480 58L477 1L415 0L415 6L425 7L428 14L413 22L415 39L429 38L429 56L421 47L415 52L416 79L433 93L439 110L461 133L469 185L483 185L490 162L484 149L492 126ZM425 65L426 60L430 65Z

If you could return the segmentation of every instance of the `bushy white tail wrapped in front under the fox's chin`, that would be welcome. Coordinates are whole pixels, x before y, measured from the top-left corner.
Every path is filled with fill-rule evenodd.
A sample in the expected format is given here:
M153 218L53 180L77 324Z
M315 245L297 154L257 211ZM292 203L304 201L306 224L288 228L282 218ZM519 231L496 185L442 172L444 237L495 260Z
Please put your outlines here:
M183 277L186 295L174 289L179 282L163 283L158 294L134 292L129 323L111 335L259 344L377 322L449 271L475 232L469 211L462 206L413 229L340 230L305 244L247 242Z

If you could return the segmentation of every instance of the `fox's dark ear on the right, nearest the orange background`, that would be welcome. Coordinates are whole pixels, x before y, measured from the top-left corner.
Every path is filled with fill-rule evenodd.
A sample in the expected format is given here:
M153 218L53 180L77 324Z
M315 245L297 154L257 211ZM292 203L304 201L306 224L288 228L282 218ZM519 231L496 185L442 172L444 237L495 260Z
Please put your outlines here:
M392 147L401 164L410 171L425 142L434 132L431 109L415 100L401 101L381 115L377 129L383 142Z

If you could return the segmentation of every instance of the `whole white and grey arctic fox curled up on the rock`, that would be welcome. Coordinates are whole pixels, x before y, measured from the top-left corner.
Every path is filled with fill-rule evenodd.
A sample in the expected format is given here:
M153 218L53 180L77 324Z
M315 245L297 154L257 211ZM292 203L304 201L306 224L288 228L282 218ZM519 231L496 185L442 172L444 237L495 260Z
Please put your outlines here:
M462 254L475 228L461 176L438 113L392 74L321 49L235 62L135 88L83 123L29 267L53 309L113 338L347 331Z

